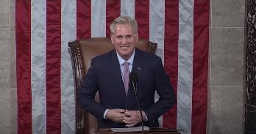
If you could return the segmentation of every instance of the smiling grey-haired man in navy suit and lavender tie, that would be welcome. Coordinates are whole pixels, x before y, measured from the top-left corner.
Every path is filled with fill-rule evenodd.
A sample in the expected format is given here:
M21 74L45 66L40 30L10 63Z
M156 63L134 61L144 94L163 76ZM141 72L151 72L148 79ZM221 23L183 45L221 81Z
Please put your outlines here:
M158 117L171 108L175 101L161 59L135 48L138 42L135 19L127 16L115 18L110 30L115 49L91 60L88 74L79 89L79 104L96 116L99 128L141 125L135 92L127 80L129 72L136 72L138 101L144 125L158 127ZM94 100L97 91L100 103ZM157 103L154 103L155 91L160 95Z

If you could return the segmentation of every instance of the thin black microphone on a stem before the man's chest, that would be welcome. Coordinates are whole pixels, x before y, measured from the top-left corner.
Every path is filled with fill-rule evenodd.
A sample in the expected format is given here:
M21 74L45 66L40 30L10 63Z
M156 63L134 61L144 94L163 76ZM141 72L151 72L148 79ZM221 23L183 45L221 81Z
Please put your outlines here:
M143 116L142 116L142 111L141 111L141 106L140 106L140 103L138 101L138 95L137 95L137 85L138 85L138 75L136 72L131 72L129 73L129 81L132 82L132 89L135 93L135 97L136 97L136 101L137 101L137 105L138 105L138 109L141 113L141 126L142 126L142 133L144 131L144 128L143 128Z

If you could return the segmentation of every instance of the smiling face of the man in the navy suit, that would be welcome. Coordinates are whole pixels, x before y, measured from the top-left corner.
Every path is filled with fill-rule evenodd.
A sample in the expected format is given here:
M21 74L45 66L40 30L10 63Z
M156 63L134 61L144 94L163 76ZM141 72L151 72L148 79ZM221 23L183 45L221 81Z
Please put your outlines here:
M115 34L111 34L111 42L115 45L115 51L127 60L138 42L138 34L132 32L132 26L129 23L116 24Z

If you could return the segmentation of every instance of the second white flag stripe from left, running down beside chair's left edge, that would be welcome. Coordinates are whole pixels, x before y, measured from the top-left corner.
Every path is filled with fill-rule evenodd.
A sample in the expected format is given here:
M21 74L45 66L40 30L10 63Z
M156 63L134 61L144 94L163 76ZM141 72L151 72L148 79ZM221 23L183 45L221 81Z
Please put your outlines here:
M61 133L75 133L74 77L68 42L77 39L77 0L61 2Z

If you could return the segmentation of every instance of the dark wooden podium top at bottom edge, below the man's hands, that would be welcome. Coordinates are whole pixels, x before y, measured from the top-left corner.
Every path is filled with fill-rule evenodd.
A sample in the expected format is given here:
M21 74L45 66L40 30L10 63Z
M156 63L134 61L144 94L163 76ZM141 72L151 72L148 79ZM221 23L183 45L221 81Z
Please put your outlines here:
M141 132L113 132L110 129L99 129L97 134L141 134ZM164 128L150 128L149 131L144 131L144 134L180 134L179 131Z

